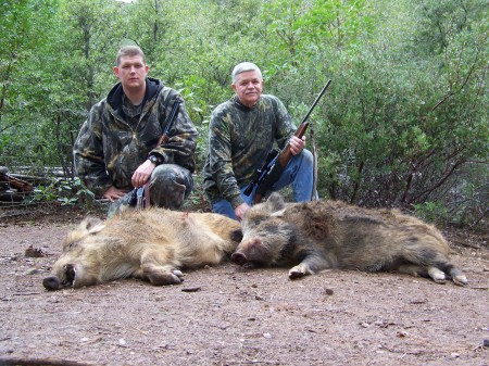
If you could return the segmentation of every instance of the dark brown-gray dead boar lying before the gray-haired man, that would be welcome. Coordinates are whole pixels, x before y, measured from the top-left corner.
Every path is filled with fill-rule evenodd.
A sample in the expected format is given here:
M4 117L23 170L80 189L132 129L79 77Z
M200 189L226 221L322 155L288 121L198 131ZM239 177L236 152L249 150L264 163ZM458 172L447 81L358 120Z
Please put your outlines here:
M294 279L326 268L400 272L460 286L465 275L448 260L441 232L398 210L367 210L339 201L285 203L279 193L250 207L231 260L293 266Z

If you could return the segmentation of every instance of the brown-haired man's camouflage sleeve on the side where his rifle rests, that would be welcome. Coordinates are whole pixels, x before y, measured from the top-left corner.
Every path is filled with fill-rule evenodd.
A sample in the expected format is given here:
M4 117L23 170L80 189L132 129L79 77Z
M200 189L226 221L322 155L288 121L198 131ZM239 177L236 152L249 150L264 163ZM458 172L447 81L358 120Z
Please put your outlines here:
M173 125L170 129L170 139L165 143L154 148L151 153L160 155L164 163L174 163L185 168L193 172L195 166L195 152L197 146L197 129L191 122L187 111L185 109L185 103L179 94L171 88L165 88L162 91L162 97L160 98L160 108L164 108L164 113L160 115L166 116L172 112L172 108L178 98L180 100L180 105L178 109L178 114L176 115ZM166 100L170 99L170 102ZM163 126L165 128L166 126Z

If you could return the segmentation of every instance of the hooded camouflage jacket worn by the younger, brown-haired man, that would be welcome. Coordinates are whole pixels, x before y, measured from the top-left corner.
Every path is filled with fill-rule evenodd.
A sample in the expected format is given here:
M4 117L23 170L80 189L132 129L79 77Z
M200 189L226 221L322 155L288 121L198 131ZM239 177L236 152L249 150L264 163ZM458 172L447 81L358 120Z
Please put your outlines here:
M115 85L108 97L95 104L82 126L73 148L75 171L88 189L101 197L111 187L131 189L136 168L155 154L163 164L195 171L197 130L180 103L170 129L170 140L156 147L166 116L178 93L160 80L147 78L146 97L139 119L130 122L123 109L124 91Z

